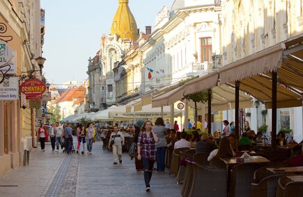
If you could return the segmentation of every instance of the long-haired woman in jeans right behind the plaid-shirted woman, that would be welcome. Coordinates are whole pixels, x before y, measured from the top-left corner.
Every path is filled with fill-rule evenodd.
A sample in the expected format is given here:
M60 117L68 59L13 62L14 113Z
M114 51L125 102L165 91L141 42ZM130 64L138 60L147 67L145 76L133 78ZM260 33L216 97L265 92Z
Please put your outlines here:
M157 133L157 137L159 138L159 142L156 143L157 147L157 171L165 170L165 151L167 147L165 135L166 128L164 126L164 120L161 117L158 117L155 121L155 126L153 128Z

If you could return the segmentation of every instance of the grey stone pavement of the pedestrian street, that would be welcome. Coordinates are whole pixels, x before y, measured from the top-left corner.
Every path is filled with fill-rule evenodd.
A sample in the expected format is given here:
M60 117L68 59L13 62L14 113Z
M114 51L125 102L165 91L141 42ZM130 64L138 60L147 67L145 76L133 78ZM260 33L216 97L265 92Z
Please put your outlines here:
M30 153L29 166L0 176L0 196L181 196L168 173L153 173L151 191L146 193L143 171L123 153L123 163L113 165L112 154L93 144L92 155L52 152L40 148Z

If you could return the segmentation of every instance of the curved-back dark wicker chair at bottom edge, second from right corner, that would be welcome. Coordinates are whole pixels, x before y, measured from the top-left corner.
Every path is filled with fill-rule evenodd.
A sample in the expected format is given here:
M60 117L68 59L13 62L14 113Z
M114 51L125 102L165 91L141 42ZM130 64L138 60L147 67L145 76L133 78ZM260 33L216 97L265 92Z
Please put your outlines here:
M251 197L275 197L278 180L282 176L282 174L269 175L258 183L251 183Z

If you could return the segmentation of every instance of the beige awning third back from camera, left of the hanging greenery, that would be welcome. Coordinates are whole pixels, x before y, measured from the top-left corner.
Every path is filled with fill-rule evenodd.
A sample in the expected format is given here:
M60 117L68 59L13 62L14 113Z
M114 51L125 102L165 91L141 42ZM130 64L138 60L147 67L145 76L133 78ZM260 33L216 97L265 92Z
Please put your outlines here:
M181 87L177 87L176 89L171 90L170 92L166 92L161 96L152 100L153 108L171 105L176 101L180 101L183 98L184 93L184 85Z

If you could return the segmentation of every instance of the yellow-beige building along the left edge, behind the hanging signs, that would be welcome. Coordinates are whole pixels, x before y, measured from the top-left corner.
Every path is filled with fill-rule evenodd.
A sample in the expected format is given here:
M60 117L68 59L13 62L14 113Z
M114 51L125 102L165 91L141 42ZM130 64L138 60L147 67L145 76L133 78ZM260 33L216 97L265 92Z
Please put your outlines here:
M41 78L35 60L41 55L40 1L0 1L0 13L0 40L13 50L16 68L7 82L29 74ZM22 164L24 149L35 146L36 112L23 110L20 102L20 94L17 100L0 100L0 174Z

